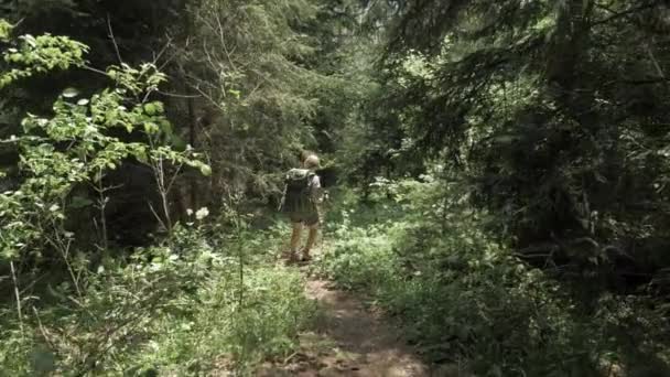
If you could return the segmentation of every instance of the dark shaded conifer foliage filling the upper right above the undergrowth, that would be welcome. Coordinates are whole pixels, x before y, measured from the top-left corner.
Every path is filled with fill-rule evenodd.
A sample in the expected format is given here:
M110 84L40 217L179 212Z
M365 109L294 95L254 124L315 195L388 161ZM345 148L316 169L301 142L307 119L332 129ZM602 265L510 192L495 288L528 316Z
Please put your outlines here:
M383 162L375 174L400 168L391 152L449 163L516 248L569 260L565 271L596 276L599 289L626 284L623 265L653 274L669 239L668 11L662 1L402 2L380 69L390 110L366 138L381 134L383 148L367 160Z

